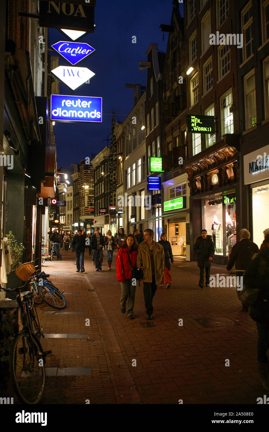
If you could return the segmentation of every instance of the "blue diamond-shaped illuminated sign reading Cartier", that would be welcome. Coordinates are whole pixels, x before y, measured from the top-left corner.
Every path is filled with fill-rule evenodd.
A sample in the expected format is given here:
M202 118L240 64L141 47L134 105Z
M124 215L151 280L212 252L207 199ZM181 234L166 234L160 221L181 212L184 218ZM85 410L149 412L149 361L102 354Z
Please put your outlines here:
M60 41L51 47L73 66L95 52L91 45L79 42Z

